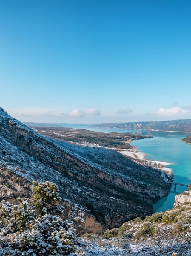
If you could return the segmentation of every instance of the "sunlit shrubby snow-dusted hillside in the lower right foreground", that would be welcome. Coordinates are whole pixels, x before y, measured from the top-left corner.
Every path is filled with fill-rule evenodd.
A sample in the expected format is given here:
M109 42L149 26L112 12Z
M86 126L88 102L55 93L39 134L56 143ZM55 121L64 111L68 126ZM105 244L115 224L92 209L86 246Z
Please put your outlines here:
M172 210L136 218L105 231L103 237L83 236L73 255L190 256L191 191L175 199Z

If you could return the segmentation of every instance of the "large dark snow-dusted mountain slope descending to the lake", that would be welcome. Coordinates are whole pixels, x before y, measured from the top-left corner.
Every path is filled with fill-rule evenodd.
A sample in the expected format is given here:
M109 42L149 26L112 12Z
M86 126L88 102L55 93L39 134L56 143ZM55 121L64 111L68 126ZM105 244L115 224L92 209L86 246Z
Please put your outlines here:
M28 181L56 183L63 201L78 203L104 229L151 214L151 204L170 189L158 170L145 168L112 150L69 145L43 137L3 109L0 165ZM4 186L1 198L28 193L27 187L6 182L15 190L9 192Z

